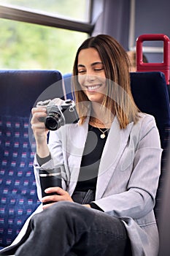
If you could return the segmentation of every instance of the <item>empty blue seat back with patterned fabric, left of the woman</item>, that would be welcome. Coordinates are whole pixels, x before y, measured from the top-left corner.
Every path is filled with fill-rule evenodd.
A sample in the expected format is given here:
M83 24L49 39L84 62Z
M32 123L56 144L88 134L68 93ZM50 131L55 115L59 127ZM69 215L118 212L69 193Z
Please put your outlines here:
M0 246L12 243L39 206L28 128L39 100L63 98L55 70L0 71ZM35 150L35 148L34 148Z

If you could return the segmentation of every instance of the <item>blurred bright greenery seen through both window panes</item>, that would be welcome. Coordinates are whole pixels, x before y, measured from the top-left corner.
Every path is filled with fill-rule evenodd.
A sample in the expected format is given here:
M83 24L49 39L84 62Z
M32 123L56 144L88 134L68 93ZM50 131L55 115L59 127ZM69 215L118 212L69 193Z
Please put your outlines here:
M83 10L80 12L81 6L85 12L87 11L85 1L4 0L0 1L0 4L15 4L15 7L22 4L22 7L29 8L32 4L34 10L38 8L39 4L43 7L41 10L45 10L45 7L46 12L48 9L49 12L51 12L50 9L53 12L58 10L62 15L67 15L67 18L69 16L78 20L79 16L87 16ZM67 14L61 10L65 10ZM0 26L0 69L58 69L62 74L72 72L77 48L88 37L88 34L78 31L56 29L3 18L0 18Z

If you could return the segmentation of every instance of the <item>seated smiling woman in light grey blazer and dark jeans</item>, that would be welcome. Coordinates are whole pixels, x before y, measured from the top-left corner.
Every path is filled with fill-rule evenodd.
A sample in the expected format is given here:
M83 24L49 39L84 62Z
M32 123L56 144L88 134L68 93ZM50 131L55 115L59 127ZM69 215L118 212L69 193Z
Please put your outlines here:
M128 70L115 39L90 37L74 61L79 123L50 132L47 145L39 121L46 108L32 110L39 197L39 170L64 171L62 188L45 190L57 195L41 199L44 210L31 218L15 255L158 255L153 207L162 150L154 118L131 96Z

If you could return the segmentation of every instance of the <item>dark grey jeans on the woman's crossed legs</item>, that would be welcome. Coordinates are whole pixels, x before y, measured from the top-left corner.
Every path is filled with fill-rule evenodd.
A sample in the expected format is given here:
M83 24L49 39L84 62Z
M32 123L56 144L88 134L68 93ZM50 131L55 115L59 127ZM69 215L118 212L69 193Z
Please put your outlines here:
M18 248L1 255L122 256L130 251L120 219L63 201L35 214Z

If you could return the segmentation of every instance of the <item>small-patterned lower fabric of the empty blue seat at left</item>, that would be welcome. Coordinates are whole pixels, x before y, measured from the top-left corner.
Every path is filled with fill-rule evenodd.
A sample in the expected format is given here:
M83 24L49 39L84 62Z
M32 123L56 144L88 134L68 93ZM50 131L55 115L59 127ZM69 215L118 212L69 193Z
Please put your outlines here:
M11 244L39 205L28 139L28 118L0 119L0 244Z

